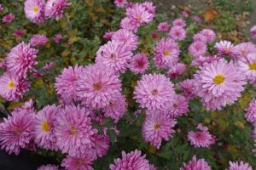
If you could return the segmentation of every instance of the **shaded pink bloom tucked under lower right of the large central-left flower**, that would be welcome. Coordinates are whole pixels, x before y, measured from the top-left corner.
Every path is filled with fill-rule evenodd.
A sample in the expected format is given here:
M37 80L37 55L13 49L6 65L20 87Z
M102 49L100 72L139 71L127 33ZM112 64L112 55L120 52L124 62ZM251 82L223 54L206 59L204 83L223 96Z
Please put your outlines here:
M104 116L111 117L115 122L119 121L119 118L125 115L126 102L125 96L122 94L117 94L114 99L109 102L109 105L103 108Z

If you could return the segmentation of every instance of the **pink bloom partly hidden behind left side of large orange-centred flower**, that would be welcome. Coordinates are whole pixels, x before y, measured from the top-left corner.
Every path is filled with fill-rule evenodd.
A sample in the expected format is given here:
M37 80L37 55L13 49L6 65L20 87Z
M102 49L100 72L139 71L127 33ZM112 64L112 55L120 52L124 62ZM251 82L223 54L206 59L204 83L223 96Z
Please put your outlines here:
M84 68L79 65L74 67L69 66L61 71L61 75L55 78L55 89L57 94L61 97L64 103L70 103L77 100L79 76L82 74Z

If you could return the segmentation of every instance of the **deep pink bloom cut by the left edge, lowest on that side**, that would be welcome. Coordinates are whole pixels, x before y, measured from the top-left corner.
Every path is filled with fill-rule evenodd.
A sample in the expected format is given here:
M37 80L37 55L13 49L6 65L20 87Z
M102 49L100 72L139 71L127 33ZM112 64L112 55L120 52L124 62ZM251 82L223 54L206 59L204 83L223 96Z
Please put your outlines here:
M0 145L9 154L19 155L34 137L34 119L26 111L13 112L0 123Z

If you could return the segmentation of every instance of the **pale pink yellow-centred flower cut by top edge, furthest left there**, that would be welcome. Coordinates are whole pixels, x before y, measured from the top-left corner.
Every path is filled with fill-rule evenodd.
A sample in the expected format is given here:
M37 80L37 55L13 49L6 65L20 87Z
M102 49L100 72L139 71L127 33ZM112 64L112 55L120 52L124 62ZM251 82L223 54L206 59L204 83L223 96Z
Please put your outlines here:
M40 24L45 20L45 3L44 0L26 0L24 11L26 18L32 23Z

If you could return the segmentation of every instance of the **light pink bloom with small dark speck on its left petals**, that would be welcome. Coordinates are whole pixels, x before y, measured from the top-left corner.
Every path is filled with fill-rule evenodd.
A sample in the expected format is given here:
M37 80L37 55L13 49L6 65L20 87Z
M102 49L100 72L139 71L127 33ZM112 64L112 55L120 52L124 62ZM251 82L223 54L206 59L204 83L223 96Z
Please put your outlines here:
M125 72L131 56L131 49L123 42L111 41L98 49L96 63L106 65L116 72Z

